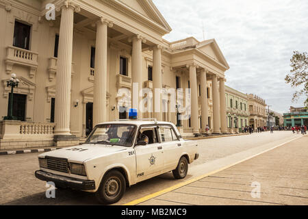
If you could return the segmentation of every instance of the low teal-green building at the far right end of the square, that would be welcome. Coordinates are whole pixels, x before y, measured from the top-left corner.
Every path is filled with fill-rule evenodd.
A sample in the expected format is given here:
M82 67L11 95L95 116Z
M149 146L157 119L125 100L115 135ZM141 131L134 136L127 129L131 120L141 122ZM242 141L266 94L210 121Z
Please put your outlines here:
M290 113L283 114L283 126L308 126L308 110L305 107L290 107Z

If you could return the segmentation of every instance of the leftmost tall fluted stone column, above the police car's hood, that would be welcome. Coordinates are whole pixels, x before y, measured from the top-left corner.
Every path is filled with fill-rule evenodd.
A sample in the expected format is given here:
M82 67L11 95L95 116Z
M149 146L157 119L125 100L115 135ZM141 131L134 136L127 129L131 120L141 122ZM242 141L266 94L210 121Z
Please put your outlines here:
M55 83L55 136L70 136L70 86L75 7L63 5L60 23L57 82Z

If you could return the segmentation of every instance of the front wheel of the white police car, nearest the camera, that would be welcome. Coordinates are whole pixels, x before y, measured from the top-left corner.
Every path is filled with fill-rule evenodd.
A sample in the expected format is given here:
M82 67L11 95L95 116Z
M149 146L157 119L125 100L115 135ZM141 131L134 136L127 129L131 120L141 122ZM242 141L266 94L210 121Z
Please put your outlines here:
M103 205L117 203L123 197L126 189L125 177L118 170L111 170L103 177L99 190L95 193Z

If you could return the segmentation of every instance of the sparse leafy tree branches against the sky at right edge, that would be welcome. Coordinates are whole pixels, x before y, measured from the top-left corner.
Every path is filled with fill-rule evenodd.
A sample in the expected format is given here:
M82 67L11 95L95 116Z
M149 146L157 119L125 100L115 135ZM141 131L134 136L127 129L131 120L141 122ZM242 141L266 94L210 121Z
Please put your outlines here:
M305 107L308 107L308 54L306 52L299 53L298 51L294 51L290 61L292 70L290 71L290 75L285 77L285 82L290 83L292 88L304 86L304 88L296 90L293 94L292 101L298 99L300 95L305 95L306 101L304 104Z

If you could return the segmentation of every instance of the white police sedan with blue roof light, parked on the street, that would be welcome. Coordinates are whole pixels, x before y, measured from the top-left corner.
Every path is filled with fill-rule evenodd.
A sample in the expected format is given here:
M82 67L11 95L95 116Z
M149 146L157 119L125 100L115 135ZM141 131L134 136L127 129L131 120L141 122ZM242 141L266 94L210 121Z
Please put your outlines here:
M172 123L119 120L94 127L84 144L38 156L38 179L57 188L95 192L103 204L116 203L127 186L172 171L183 179L198 159L196 142L183 140Z

